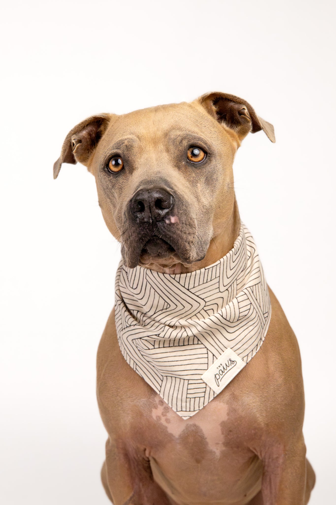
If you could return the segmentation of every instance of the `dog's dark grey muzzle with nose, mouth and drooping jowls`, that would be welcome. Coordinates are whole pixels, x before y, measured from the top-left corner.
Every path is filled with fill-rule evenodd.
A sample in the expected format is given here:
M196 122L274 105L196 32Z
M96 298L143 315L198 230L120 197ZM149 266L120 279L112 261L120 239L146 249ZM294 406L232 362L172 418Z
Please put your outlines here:
M124 264L135 268L158 260L190 264L202 260L209 246L208 233L197 233L190 203L169 184L138 189L123 215L121 254Z

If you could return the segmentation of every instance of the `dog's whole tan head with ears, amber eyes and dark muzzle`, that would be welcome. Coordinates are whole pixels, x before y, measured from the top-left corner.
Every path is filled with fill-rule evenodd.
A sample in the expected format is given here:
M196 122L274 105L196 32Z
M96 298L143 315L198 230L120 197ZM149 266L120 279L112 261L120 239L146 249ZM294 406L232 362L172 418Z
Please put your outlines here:
M260 130L275 142L270 123L224 93L92 116L66 136L54 178L62 163L88 167L126 266L188 269L232 216L233 159L247 133Z

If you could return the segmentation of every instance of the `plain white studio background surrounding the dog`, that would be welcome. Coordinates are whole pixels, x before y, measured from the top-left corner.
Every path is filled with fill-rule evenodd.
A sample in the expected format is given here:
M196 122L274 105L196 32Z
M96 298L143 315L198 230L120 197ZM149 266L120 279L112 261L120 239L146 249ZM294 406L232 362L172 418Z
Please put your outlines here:
M332 2L13 1L3 8L1 485L4 505L107 504L95 355L120 248L82 165L52 165L66 133L224 91L275 125L249 135L238 204L268 283L298 337L304 434L334 500L334 124ZM5 12L5 14L4 14Z

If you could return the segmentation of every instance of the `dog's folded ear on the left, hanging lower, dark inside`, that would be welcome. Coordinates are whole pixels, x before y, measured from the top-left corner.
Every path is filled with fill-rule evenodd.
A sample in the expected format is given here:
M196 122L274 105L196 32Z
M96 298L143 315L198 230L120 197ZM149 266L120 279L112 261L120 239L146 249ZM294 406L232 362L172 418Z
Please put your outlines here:
M91 116L70 130L63 142L60 157L54 163L54 179L62 163L87 164L113 116L114 114Z

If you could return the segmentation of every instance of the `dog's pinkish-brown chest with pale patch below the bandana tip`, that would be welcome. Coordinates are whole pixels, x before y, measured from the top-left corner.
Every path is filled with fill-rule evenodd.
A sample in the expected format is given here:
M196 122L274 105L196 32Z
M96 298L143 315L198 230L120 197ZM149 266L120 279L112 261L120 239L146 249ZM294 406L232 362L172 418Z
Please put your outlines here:
M154 479L176 503L199 501L199 496L219 505L248 502L260 485L262 465L244 446L246 427L238 426L235 416L230 419L225 402L213 401L183 420L159 399L150 417L147 429L141 429L145 456Z

